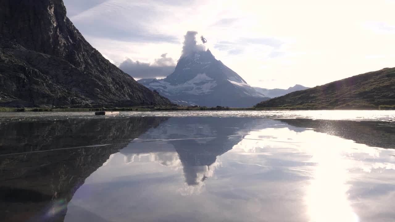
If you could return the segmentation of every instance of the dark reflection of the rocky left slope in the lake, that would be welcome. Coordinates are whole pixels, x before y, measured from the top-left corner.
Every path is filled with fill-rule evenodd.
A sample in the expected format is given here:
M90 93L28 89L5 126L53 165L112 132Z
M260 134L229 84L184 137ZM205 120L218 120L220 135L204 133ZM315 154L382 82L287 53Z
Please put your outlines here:
M63 221L68 202L89 175L111 154L167 119L1 122L1 221ZM107 145L87 147L100 144Z

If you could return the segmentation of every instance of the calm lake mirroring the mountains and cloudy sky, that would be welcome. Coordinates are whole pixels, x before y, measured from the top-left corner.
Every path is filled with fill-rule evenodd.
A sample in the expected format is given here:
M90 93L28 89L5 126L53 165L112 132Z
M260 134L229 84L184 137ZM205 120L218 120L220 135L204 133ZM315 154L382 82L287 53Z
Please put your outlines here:
M0 113L4 222L395 220L395 111Z

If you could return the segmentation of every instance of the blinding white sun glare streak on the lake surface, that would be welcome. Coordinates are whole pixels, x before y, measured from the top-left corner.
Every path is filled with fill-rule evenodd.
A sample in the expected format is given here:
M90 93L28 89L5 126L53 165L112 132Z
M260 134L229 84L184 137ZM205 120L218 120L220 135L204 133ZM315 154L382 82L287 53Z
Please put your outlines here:
M306 196L310 221L359 222L348 200L350 185L347 185L346 181L349 176L349 165L348 160L342 156L344 141L340 144L337 143L340 140L333 138L327 142L327 145L311 149L311 161L317 165Z

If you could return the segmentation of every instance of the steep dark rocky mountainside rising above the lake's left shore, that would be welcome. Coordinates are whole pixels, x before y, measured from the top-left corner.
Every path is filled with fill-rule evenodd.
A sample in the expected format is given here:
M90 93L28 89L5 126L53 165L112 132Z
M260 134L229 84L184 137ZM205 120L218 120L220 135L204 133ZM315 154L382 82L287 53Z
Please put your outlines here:
M62 0L0 2L0 106L167 105L94 49Z

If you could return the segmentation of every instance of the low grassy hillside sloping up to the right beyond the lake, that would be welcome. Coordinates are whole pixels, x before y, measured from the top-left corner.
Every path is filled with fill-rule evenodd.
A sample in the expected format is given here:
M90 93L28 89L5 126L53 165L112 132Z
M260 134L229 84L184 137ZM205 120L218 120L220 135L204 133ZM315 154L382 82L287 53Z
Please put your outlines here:
M258 103L260 109L395 109L395 68L384 68Z

